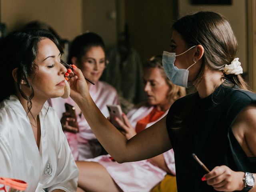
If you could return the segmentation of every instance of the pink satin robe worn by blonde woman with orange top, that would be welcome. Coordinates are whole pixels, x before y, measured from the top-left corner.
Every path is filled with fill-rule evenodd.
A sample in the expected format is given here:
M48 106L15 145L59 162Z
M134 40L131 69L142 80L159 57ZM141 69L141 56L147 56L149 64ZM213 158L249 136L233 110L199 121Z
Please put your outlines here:
M144 118L154 110L154 107L140 106L139 108L132 109L128 114L128 120L135 127L138 120ZM164 112L160 118L154 122L148 122L148 126L154 124L163 118L167 112ZM139 147L139 146L138 146ZM175 175L174 153L169 150L163 154L166 165ZM149 160L142 160L137 162L127 162L119 164L112 160L110 155L99 156L86 161L98 162L106 168L112 179L124 192L148 192L156 184L164 179L166 172L154 166Z

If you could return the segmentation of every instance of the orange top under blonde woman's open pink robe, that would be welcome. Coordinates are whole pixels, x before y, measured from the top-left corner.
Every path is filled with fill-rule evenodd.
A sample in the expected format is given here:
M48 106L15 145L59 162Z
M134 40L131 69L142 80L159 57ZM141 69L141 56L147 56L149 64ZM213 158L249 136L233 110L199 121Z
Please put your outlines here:
M139 120L136 124L135 131L136 133L141 132L146 128L146 125L158 120L165 112L164 111L159 111L156 108L154 108L150 114L148 114L146 117L143 119Z

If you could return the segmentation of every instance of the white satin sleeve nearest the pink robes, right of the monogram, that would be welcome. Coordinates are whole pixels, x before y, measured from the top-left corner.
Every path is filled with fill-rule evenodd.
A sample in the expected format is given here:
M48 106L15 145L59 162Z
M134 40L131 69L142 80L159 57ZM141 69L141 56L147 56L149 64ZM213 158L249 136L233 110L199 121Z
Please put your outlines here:
M78 169L68 146L68 141L61 130L61 140L58 151L58 165L56 183L48 188L48 192L62 189L66 192L74 192L77 188Z

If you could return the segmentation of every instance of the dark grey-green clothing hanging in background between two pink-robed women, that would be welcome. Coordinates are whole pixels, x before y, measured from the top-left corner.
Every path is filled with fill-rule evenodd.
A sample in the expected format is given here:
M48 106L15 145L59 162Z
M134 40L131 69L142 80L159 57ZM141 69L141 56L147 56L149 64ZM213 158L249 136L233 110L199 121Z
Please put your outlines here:
M133 104L138 104L146 99L142 83L140 55L133 48L114 46L106 52L106 57L109 63L101 80L116 88L122 109L124 113L127 113Z

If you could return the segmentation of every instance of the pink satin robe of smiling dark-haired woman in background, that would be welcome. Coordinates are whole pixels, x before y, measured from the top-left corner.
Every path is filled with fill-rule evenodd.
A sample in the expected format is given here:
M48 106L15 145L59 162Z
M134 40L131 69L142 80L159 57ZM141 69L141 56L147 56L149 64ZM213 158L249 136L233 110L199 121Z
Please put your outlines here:
M89 87L89 92L92 100L105 117L109 116L107 104L119 104L116 90L106 82L96 82L95 85ZM65 103L75 106L75 102L70 97L67 99L60 97L54 98L51 99L50 103L60 119L62 118L62 114L66 112ZM76 134L65 132L74 159L85 160L101 155L104 149L96 139L84 116L78 114L78 110L76 110L76 113L79 132Z

